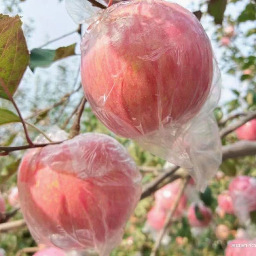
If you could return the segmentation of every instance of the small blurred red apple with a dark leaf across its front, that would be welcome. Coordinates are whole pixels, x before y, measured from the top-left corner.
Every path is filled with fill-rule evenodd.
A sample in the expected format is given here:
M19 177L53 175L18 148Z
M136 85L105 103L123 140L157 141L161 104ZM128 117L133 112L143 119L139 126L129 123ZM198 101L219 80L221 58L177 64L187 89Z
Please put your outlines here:
M198 217L197 217L198 215ZM188 222L192 227L207 227L212 220L212 211L202 203L192 203L188 208Z

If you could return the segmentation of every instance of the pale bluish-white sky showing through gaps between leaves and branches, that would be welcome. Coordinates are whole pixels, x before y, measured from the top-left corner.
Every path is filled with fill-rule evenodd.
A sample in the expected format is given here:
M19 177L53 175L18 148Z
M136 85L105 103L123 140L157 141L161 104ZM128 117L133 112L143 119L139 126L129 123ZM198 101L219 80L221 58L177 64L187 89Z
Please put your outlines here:
M4 12L3 1L5 0L0 0L0 12ZM188 8L192 12L199 10L199 0L180 0L176 2L182 5L183 7ZM226 10L226 13L230 12L232 15L238 15L243 10L243 2L244 1L242 1L242 3L238 2L234 5L229 4L229 9ZM20 15L22 15L24 30L28 30L27 25L32 25L33 27L32 31L26 33L26 39L29 50L40 47L49 40L65 35L68 32L71 32L77 28L77 25L69 17L66 11L64 0L61 2L59 2L59 0L26 0L20 3L20 8ZM204 8L206 8L206 6L203 7L203 11ZM12 13L12 15L14 14L16 13ZM214 32L214 25L212 20L212 17L210 17L209 15L204 16L201 20L201 23L210 39L213 38ZM75 42L79 42L79 40L79 36L77 34L73 34L52 44L49 44L47 48L56 49L61 46L66 46L73 44ZM220 47L220 44L214 41L212 41L212 46L218 62L221 62L221 55L223 54L224 51L223 47ZM76 52L80 52L79 44L77 44ZM63 63L67 64L70 67L70 76L74 76L77 67L79 66L79 56L71 57L61 61L63 61ZM39 76L40 80L45 79L45 81L49 80L49 77L51 76L52 80L56 79L56 76L54 74L56 73L56 68L58 64L60 64L60 61L59 63L56 63L49 68L44 68L44 70L43 68L38 68L34 74L28 69L24 75L24 81L22 81L20 86L27 86L28 81L30 84L35 83L36 79L38 80ZM42 73L45 73L47 75L42 76ZM230 76L223 72L221 75L222 92L220 105L223 105L226 101L231 100L233 97L233 93L231 92L230 89L241 90L243 86L241 86L241 82L238 76ZM33 88L31 88L30 94L31 98L33 98Z

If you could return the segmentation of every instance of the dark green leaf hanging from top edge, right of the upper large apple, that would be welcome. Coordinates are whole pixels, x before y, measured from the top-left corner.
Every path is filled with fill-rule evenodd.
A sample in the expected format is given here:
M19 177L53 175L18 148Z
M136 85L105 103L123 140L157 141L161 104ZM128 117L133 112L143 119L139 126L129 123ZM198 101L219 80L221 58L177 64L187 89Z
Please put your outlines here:
M210 0L207 12L214 17L215 24L222 24L227 0Z

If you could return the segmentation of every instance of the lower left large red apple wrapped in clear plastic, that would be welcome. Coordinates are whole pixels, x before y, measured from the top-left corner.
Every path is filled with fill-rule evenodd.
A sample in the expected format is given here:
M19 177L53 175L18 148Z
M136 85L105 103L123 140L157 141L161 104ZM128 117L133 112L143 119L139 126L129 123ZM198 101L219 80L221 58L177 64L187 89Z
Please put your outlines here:
M25 154L18 171L20 206L38 243L104 255L122 238L140 199L140 180L119 142L81 134Z

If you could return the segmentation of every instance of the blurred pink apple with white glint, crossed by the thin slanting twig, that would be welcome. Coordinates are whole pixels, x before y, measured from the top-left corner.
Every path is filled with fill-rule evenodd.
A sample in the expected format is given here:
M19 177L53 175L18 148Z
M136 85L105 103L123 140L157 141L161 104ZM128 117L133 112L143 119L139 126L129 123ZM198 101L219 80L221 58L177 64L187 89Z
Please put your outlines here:
M175 180L163 188L160 188L155 193L156 207L169 211L176 200L177 194L180 191L181 179ZM174 213L174 218L182 217L187 206L187 196L182 195L179 200L178 207Z

